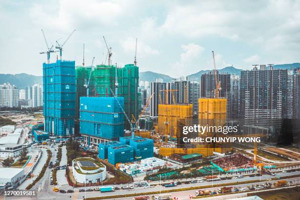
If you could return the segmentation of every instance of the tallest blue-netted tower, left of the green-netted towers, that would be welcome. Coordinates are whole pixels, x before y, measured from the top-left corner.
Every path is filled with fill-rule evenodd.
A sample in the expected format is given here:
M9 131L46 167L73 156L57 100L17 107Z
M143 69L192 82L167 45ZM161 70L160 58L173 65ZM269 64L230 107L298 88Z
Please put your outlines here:
M43 63L43 109L48 133L74 134L75 100L75 61Z

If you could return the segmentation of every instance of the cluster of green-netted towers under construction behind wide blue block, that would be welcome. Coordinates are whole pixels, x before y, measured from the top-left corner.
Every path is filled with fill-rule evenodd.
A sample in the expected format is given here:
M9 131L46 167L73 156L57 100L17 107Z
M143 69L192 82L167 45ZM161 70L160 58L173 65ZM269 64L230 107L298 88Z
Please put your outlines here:
M118 97L124 97L124 110L129 119L131 120L132 115L137 119L141 110L139 106L141 96L138 94L139 67L127 64L123 68L118 68L116 65L102 64L97 65L92 73L91 70L91 67L76 67L77 102L79 97L87 96L87 88L89 96L94 97L113 97L117 91ZM130 125L125 121L125 128L129 129L129 127Z

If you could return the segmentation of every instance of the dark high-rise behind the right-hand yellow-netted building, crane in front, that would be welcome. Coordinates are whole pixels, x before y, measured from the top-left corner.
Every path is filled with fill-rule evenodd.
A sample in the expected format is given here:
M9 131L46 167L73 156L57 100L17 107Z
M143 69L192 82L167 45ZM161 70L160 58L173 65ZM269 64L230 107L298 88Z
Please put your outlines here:
M217 74L218 83L221 82L220 87L221 90L219 92L219 98L225 98L227 100L226 104L226 118L230 118L230 74ZM212 99L215 98L215 75L214 72L209 72L208 74L201 75L201 98Z

